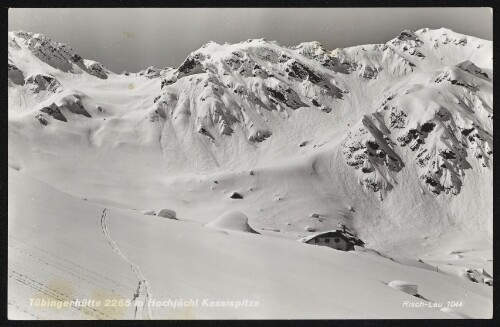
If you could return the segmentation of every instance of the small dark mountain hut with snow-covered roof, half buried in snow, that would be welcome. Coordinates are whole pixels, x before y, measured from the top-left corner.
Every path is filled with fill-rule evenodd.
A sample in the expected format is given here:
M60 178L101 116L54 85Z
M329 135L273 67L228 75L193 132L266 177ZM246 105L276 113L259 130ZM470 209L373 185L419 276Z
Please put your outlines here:
M351 251L354 246L363 246L365 243L353 234L342 230L331 230L309 235L299 239L299 242L328 246L336 250Z

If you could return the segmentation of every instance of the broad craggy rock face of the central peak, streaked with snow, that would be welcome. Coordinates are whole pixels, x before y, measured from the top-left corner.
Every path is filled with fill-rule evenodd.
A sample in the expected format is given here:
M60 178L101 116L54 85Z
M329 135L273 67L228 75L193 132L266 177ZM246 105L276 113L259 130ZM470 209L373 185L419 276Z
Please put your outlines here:
M220 55L212 56L213 51ZM192 92L184 93L184 88ZM242 46L210 42L178 69L165 71L161 89L154 101L155 111L162 113L158 117L175 119L176 111L188 111L198 120L197 131L212 140L232 135L238 124L247 140L257 143L273 134L264 111L310 108L314 100L317 110L328 113L331 100L344 94L331 76L318 72L295 50L265 40Z

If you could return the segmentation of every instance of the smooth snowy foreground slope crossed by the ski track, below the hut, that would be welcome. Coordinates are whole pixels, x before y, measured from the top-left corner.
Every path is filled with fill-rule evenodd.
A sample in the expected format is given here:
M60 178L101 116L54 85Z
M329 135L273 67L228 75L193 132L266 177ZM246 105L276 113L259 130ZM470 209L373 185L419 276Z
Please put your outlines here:
M373 251L335 251L129 210L106 210L13 170L9 190L11 319L487 318L492 314L491 287L436 272L416 260L391 260ZM420 299L390 288L387 284L393 280L417 285L420 296L444 306L403 306L404 301ZM102 304L40 308L30 307L30 298L90 298ZM134 298L153 302L138 306L137 313L133 305L104 307L106 299L134 303ZM214 308L202 304L205 298L258 305ZM169 299L200 302L177 308L155 304ZM448 301L463 305L444 309Z

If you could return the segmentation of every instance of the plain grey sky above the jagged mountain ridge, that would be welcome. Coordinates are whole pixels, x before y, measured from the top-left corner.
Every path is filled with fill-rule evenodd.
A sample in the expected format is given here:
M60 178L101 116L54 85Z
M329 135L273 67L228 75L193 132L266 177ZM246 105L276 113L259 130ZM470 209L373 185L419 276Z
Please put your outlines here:
M446 27L493 38L489 8L15 8L9 31L42 33L114 72L178 67L212 40L264 37L282 45L319 41L327 49L385 43L405 29Z

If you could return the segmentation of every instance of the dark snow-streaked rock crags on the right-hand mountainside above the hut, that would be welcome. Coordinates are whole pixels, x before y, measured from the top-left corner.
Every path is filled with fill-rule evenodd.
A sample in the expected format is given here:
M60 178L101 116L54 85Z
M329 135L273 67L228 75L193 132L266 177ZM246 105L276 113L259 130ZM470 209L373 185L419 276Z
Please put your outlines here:
M478 93L478 85L489 83L488 77L465 62L446 67L433 81L440 87L421 89L425 99L421 103L409 102L414 95L408 91L390 94L345 137L345 161L359 171L368 189L390 190L393 173L407 165L418 171L423 186L432 194L456 195L467 171L473 168L472 161L478 169L491 165L493 135L482 126L492 113ZM462 95L456 100L458 109L433 100L446 92L445 82ZM471 110L478 114L471 115Z

